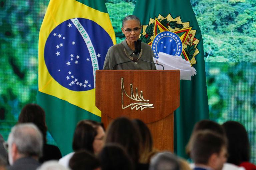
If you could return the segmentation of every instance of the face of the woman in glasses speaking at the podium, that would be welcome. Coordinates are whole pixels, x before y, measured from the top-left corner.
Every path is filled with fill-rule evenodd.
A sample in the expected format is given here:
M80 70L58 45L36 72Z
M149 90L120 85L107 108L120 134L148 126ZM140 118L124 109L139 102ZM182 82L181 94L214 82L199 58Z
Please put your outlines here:
M135 42L139 39L141 26L140 23L136 20L128 20L124 23L122 32L126 37L127 42Z

